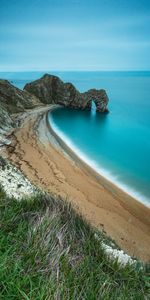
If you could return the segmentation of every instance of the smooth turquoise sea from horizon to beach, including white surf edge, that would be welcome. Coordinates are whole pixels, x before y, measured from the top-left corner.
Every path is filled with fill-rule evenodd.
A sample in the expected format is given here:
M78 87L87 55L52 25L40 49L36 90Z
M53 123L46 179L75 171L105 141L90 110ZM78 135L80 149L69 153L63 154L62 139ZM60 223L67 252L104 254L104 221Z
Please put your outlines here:
M0 72L23 88L44 73L80 91L106 89L108 114L58 108L49 114L56 133L98 173L150 207L150 72ZM94 99L93 99L94 100Z

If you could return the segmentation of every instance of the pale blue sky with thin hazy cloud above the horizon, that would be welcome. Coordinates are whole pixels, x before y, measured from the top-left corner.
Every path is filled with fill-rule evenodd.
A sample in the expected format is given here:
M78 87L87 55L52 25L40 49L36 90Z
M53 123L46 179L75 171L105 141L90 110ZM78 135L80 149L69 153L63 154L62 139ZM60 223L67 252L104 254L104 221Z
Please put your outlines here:
M0 71L150 70L150 0L0 0Z

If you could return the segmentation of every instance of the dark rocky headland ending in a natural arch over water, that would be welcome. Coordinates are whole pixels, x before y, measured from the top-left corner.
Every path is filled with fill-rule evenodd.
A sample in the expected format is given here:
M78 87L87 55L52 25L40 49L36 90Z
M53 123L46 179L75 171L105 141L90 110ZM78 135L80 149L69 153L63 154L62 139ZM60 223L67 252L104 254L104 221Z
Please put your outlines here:
M73 84L64 83L57 76L45 74L41 79L26 84L24 90L46 104L55 103L76 109L91 109L93 100L98 112L108 112L108 96L105 90L91 89L80 93Z

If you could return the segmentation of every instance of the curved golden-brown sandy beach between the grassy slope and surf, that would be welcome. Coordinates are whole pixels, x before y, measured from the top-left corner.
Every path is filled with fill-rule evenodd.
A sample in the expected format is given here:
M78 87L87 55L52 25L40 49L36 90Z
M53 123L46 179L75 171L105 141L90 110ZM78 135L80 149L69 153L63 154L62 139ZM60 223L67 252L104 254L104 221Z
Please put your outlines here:
M103 230L129 255L150 261L150 210L69 149L47 122L53 105L21 117L6 155L30 181L70 201L93 226Z

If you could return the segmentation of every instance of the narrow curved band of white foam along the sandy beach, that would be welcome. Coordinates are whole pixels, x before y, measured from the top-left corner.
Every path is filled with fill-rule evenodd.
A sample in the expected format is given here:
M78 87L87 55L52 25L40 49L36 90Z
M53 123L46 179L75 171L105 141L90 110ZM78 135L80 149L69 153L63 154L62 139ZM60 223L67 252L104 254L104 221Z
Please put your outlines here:
M128 195L132 196L137 201L143 203L145 206L150 208L150 202L149 199L145 196L143 196L140 192L135 190L134 188L129 187L124 182L121 182L121 180L118 178L119 176L113 174L112 171L109 171L103 167L100 167L94 160L91 160L85 153L83 153L72 141L69 139L54 123L53 117L51 114L49 114L49 121L51 124L51 127L56 132L60 138L65 141L66 145L71 148L75 152L75 154L82 159L86 164L88 164L92 169L94 169L98 174L105 177L107 180L115 184L117 187L119 187L121 190L126 192Z

